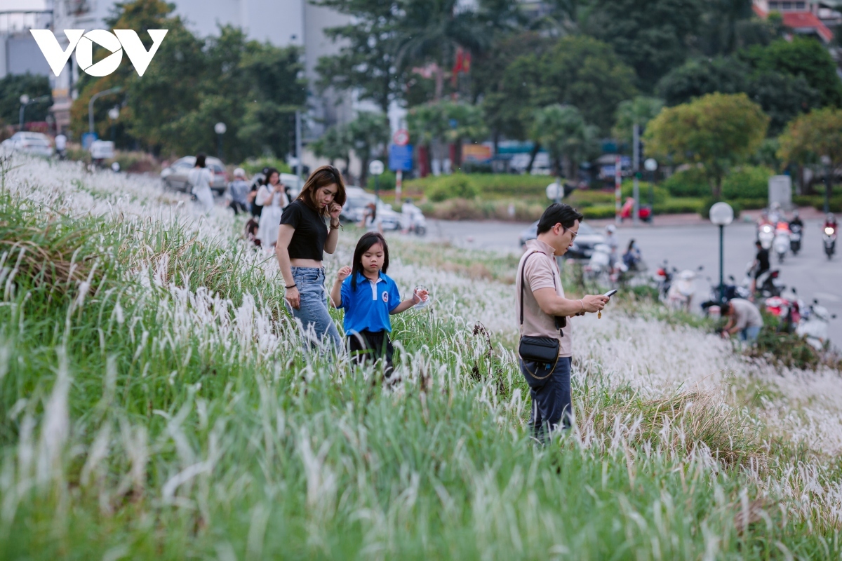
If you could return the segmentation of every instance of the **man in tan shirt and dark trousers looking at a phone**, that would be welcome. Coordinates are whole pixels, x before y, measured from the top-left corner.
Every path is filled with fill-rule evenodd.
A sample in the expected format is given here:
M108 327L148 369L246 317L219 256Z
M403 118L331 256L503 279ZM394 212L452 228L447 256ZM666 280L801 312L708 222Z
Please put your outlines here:
M520 372L530 386L532 413L530 426L536 439L545 442L562 423L570 427L573 402L570 394L570 362L573 356L573 336L569 325L558 329L556 317L569 318L585 312L605 308L608 297L588 295L583 299L564 297L561 273L555 257L564 255L576 239L582 214L569 204L551 204L538 220L538 237L526 242L526 251L520 258L515 289L515 311L520 322L521 272L523 285L523 324L521 336L557 338L558 360L555 364L533 363L520 360Z

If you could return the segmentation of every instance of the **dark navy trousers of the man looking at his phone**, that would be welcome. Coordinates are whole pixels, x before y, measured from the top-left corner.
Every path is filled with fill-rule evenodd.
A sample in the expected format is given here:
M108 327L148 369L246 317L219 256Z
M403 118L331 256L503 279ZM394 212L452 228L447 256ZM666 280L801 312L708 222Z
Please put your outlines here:
M552 364L520 361L520 372L526 378L532 396L529 424L532 435L541 442L546 442L559 424L564 429L570 428L573 415L570 362L570 357L561 357L556 368L552 368Z

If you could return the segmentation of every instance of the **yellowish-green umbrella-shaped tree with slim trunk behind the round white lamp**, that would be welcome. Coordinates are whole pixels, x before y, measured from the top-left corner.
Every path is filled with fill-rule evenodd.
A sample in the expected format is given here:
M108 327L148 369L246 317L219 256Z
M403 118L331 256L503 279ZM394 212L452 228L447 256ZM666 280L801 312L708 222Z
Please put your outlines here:
M649 122L647 150L673 164L701 164L714 198L722 178L763 143L769 117L744 93L711 93L665 108Z

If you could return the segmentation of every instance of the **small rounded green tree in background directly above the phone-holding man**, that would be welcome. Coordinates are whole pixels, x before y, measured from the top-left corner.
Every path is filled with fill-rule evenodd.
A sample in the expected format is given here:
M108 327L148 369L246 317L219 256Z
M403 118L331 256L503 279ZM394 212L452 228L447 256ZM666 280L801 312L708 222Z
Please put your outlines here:
M532 137L550 152L553 175L573 178L578 163L599 153L598 130L585 123L582 113L570 105L555 103L538 109L532 121Z

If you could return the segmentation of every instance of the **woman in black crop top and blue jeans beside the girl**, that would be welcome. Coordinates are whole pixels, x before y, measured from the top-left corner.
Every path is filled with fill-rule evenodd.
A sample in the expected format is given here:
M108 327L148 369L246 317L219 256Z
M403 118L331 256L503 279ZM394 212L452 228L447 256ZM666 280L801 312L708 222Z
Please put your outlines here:
M298 198L284 209L274 249L284 277L287 308L301 321L306 341L320 345L327 337L337 351L342 340L328 313L322 257L324 251L336 251L343 204L342 174L333 166L319 167L307 178Z

